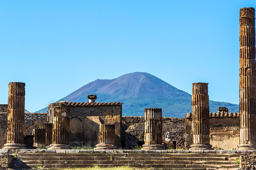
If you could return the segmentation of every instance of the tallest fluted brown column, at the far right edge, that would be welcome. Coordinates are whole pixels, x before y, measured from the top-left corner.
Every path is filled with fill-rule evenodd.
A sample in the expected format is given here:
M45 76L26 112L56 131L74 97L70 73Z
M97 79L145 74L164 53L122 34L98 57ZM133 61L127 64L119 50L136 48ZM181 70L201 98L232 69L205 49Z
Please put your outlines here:
M240 144L238 149L256 149L255 10L240 9L239 70Z

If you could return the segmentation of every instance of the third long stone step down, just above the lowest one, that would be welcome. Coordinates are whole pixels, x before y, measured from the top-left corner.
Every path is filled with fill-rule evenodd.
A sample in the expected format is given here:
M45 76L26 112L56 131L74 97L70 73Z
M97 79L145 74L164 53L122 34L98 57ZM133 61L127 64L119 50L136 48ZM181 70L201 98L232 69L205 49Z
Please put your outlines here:
M24 164L236 164L235 161L186 161L186 160L23 160Z

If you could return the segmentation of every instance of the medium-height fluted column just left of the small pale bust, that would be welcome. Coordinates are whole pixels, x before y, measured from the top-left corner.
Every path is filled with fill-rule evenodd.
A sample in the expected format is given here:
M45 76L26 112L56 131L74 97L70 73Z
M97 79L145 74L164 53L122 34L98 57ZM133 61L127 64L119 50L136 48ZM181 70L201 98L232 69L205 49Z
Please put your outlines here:
M162 144L162 109L145 109L145 135L142 150L166 149Z

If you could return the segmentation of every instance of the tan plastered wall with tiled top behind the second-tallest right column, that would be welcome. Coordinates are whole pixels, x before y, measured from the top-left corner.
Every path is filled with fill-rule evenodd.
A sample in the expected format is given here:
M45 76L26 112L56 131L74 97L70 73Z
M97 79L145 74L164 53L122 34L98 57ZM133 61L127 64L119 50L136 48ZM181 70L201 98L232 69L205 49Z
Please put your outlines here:
M214 149L237 149L239 144L239 114L210 113L210 144ZM192 144L192 118L186 114L185 148Z

